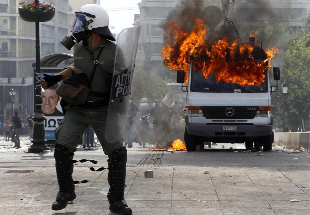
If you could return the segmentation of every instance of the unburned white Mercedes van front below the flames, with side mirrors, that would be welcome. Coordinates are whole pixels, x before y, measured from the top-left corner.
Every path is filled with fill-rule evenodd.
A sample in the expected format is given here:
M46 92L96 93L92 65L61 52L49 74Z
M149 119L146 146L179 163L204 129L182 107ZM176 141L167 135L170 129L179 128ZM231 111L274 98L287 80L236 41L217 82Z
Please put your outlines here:
M264 151L272 149L273 116L271 115L271 93L277 86L270 86L271 72L264 70L261 85L240 86L236 83L216 82L210 73L202 76L202 69L188 71L188 86L184 86L184 70L178 70L177 82L187 93L188 114L185 116L184 140L188 151L196 146L203 148L204 142L245 143ZM273 68L273 79L280 80L280 69Z

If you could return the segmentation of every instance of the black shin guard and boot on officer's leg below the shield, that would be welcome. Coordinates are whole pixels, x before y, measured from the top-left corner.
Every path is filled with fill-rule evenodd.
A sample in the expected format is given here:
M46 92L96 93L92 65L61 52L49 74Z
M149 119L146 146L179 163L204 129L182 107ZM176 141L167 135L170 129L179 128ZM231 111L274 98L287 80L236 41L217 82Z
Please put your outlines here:
M109 210L118 214L132 214L124 200L125 178L126 178L127 149L122 147L112 151L109 155L108 192Z

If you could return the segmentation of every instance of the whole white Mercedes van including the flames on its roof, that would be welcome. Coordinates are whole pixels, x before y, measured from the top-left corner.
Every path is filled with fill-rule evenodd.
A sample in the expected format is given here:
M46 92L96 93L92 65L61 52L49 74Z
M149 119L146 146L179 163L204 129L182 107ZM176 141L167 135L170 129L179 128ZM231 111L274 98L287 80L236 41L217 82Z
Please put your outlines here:
M244 143L268 151L272 148L272 78L280 69L268 63L272 56L262 47L223 39L209 49L196 47L188 71L178 70L177 82L186 83L188 114L185 145L195 151L204 142ZM188 77L188 79L186 79Z

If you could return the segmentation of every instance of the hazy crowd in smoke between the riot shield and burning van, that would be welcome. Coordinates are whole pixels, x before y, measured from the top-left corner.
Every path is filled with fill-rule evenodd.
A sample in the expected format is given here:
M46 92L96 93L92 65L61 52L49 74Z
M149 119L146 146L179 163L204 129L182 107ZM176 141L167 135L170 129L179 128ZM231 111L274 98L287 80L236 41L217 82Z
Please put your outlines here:
M142 115L130 96L125 124L125 145L128 147L132 147L132 143L144 145L145 142L157 148L170 147L175 139L183 140L184 128L184 111L177 101L167 105L162 99L155 99L148 114Z

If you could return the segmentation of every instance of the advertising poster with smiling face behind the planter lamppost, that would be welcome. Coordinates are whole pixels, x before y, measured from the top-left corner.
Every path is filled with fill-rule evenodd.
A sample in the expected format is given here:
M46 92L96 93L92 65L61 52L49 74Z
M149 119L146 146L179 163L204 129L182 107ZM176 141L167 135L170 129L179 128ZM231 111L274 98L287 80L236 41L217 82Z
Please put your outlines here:
M48 73L49 75L55 75L55 73ZM43 73L41 73L41 78ZM58 127L57 121L64 118L62 109L60 106L61 97L56 93L56 88L59 84L55 84L50 88L43 90L41 92L42 96L42 112L45 116L44 129L45 129L45 139L47 141L55 141L54 131Z

